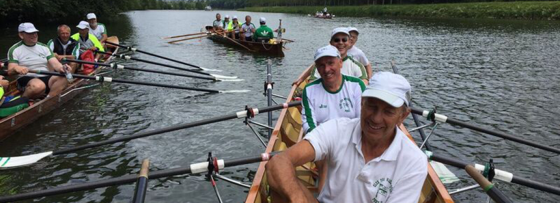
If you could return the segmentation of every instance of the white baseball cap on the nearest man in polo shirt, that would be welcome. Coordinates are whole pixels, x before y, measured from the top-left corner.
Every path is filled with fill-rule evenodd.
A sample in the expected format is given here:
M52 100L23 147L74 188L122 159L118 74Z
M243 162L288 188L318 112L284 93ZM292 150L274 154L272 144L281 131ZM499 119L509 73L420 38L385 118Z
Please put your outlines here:
M395 108L402 107L403 104L408 107L410 91L410 84L402 75L380 72L371 77L362 98L381 99Z

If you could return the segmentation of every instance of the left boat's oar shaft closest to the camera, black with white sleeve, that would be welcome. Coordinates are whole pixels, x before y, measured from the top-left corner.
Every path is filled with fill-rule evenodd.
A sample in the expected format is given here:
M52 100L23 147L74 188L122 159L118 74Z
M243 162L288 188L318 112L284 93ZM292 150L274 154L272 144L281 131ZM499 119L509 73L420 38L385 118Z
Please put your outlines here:
M43 74L43 75L55 75L55 76L66 76L62 73L56 73L56 72L50 72L50 71L30 70L29 73L36 73L36 74ZM202 88L190 88L190 87L187 87L187 86L168 85L168 84L160 84L160 83L152 83L152 82L144 82L144 81L136 81L136 80L114 79L114 78L108 78L108 77L104 77L104 76L87 76L87 75L78 75L78 74L72 74L72 76L74 78L95 80L95 81L100 81L100 82L126 83L126 84L135 84L135 85L158 86L158 87L162 87L162 88L175 88L175 89L183 89L183 90L204 91L204 92L207 92L207 93L220 93L220 91L218 91L218 90L202 89Z

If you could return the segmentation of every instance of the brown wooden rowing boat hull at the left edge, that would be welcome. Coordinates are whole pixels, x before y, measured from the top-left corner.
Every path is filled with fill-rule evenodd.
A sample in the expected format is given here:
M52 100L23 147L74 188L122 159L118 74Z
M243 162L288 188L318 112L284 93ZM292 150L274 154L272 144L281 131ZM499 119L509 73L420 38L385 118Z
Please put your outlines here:
M107 38L107 41L119 43L119 38L116 36L111 36ZM116 52L118 47L113 45L106 45L107 49L111 52ZM105 60L105 63L111 62L114 59L114 56L109 57ZM94 72L90 73L90 75L99 74L104 67L97 68ZM33 123L35 120L39 119L41 116L48 114L55 108L59 107L60 105L66 103L67 101L71 100L80 93L83 88L83 85L87 83L86 80L82 79L75 79L71 84L68 84L66 89L64 89L60 94L56 96L50 96L49 98L45 98L41 101L38 101L32 104L30 107L21 110L9 117L3 118L0 120L0 141L11 136L13 133L17 132L17 130L25 127ZM6 95L19 95L21 94L20 91L16 89L15 81L10 83Z

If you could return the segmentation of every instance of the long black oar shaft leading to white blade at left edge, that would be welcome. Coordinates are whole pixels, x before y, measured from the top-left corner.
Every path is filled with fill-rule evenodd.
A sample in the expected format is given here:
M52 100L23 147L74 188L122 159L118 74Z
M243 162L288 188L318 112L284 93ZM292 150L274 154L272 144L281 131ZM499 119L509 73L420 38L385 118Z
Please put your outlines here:
M255 112L255 114L265 113L265 112L269 112L269 111L273 111L273 110L295 107L295 106L298 106L298 105L301 105L301 101L293 101L293 102L290 102L290 103L278 104L278 105L273 105L273 106L264 107L264 108L254 108L253 112ZM113 143L118 143L118 142L124 142L124 141L129 141L131 139L153 136L155 134L167 133L167 132L172 132L172 131L175 131L175 130L197 127L199 125L221 122L223 120L230 120L230 119L235 119L235 118L245 118L245 117L247 117L247 111L246 110L241 111L241 112L237 112L237 113L233 113L233 114L222 115L220 117L214 117L214 118L199 120L197 122L171 125L170 127L160 128L160 129L156 129L156 130L150 130L150 131L147 131L147 132L142 132L142 133L137 133L137 134L132 134L130 136L123 136L123 137L118 137L118 138L114 138L114 139L108 139L106 141L89 143L89 144L85 144L85 145L78 146L78 147L62 149L62 150L53 152L53 155L66 154L66 153L80 151L80 150L83 150L83 149L103 146L105 144L113 144Z

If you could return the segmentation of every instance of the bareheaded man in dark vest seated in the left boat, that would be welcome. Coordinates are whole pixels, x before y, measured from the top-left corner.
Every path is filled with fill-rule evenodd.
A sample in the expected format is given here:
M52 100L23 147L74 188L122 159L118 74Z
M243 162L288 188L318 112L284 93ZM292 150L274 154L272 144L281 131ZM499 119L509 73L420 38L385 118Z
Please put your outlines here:
M58 37L46 43L50 50L53 51L54 57L56 57L58 61L62 61L63 59L78 59L78 55L80 55L80 43L70 38L70 33L70 27L67 25L59 25L57 28ZM75 73L78 64L71 62L68 65L72 68L71 72Z

